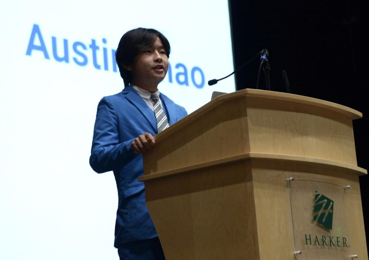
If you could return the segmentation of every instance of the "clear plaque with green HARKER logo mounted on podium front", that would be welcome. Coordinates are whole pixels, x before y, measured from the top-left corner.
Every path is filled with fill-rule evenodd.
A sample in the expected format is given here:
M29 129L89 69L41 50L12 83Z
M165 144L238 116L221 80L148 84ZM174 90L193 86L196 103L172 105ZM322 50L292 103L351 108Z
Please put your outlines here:
M314 180L288 180L297 259L349 259L351 229L346 205L351 187Z

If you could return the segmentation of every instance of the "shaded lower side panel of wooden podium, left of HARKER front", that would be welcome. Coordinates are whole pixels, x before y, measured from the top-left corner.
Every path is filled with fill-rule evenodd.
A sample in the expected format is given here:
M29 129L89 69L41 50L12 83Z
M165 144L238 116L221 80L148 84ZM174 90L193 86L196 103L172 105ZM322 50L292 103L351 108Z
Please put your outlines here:
M259 259L250 171L235 162L146 186L167 260Z

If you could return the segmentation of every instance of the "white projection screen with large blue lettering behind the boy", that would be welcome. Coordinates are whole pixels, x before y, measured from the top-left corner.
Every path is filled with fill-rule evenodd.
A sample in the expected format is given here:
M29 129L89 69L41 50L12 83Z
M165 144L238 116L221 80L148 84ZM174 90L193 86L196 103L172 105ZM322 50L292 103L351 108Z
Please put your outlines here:
M159 90L193 112L235 91L233 77L207 85L233 71L228 1L1 6L0 259L118 259L114 176L88 163L97 103L123 89L112 50L130 29L161 31L172 52Z

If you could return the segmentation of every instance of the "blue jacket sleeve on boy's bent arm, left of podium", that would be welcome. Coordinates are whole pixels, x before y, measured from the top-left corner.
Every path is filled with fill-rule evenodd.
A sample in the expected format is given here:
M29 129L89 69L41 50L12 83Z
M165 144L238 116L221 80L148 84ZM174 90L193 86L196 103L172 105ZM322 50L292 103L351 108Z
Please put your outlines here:
M97 106L90 165L97 173L113 171L127 165L135 156L130 150L132 141L119 143L118 117L107 97Z

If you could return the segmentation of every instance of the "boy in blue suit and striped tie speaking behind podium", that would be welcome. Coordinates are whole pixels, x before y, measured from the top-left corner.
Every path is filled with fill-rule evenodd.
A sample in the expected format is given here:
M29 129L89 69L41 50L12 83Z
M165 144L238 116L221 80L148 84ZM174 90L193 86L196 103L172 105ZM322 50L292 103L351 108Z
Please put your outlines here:
M113 171L118 189L114 246L120 259L165 259L145 205L142 153L153 136L187 115L159 93L168 71L170 45L160 32L137 28L125 33L115 52L124 80L122 92L97 107L90 165L97 173Z

